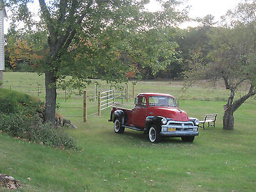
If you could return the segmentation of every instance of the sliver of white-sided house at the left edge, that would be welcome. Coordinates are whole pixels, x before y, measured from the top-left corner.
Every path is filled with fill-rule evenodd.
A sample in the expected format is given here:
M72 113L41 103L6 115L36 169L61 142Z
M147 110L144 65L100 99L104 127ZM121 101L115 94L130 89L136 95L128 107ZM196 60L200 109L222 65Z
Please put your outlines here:
M2 82L4 70L4 17L6 17L6 11L3 0L0 0L0 81Z

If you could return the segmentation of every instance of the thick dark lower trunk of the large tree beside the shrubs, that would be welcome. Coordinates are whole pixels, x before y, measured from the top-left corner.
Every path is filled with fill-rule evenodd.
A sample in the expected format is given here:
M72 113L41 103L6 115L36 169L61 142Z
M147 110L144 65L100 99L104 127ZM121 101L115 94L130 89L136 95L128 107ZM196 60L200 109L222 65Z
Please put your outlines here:
M45 72L45 122L54 124L56 112L56 78L52 72Z

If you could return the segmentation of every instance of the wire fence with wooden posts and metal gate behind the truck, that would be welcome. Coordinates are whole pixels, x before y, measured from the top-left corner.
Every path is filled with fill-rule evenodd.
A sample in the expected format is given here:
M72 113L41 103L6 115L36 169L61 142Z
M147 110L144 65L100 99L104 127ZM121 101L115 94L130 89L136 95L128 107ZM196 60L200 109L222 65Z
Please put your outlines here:
M45 88L42 85L21 85L9 86L5 88L23 92L34 97L39 97L42 101L45 101ZM132 97L134 97L134 95L132 95ZM83 118L83 121L86 122L87 117L93 115L100 116L102 110L114 106L116 100L118 102L122 102L122 104L125 100L128 100L127 85L122 85L115 88L114 86L95 84L94 89L90 89L90 94L88 94L86 91L84 91L84 93L74 91L72 94L70 94L68 90L57 89L56 109L66 118Z

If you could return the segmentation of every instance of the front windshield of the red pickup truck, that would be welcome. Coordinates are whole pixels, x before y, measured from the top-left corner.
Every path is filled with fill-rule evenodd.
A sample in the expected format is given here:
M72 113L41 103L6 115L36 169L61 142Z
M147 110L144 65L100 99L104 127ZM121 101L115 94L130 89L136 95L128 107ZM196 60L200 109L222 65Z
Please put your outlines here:
M172 97L152 96L148 97L148 103L150 106L176 107L175 99L173 99Z

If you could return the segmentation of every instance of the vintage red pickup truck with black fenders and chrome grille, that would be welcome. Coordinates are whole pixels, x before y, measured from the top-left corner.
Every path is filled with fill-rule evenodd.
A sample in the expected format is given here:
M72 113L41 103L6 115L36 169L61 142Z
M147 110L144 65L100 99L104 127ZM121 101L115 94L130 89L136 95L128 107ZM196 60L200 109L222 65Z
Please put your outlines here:
M113 107L109 122L114 123L116 133L123 133L125 128L147 132L152 143L161 137L180 137L192 142L199 125L197 118L189 118L177 108L172 95L163 93L139 93L133 109Z

